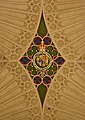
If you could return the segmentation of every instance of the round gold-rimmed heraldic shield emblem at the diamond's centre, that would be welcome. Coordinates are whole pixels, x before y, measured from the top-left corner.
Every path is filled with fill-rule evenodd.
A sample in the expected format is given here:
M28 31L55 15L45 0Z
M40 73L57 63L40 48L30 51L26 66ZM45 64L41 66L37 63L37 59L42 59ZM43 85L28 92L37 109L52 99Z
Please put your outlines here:
M33 65L36 69L45 71L52 63L51 55L47 52L40 51L36 53L33 57Z

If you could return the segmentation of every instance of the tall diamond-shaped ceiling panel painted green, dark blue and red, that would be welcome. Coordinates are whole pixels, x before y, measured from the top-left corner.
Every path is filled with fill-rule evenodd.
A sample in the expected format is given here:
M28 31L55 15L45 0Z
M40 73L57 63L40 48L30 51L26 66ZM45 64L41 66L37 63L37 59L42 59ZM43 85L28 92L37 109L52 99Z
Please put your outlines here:
M43 105L46 92L54 75L65 62L47 32L43 15L37 35L20 62L33 79Z

